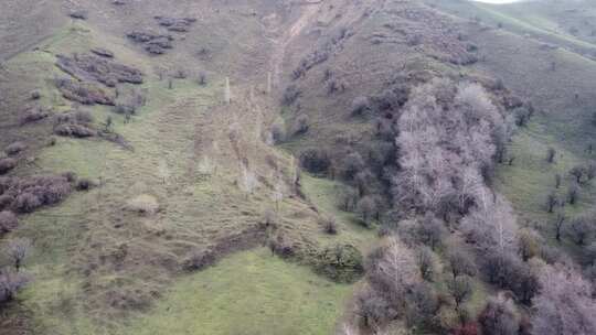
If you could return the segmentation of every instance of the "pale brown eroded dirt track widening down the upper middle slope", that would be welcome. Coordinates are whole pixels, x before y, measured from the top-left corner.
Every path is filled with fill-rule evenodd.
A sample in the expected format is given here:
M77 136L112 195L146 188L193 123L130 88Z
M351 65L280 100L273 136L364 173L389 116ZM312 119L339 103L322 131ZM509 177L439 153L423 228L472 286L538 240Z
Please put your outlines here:
M267 78L270 74L273 90L266 94L258 89L266 86L265 79L264 83L233 85L233 99L230 105L225 105L223 99L216 100L196 118L194 159L188 166L189 175L205 160L224 170L236 170L240 175L245 168L256 169L257 165L264 165L253 164L253 160L265 160L266 154L278 155L274 148L265 143L263 130L277 117L277 98L281 89L287 48L308 26L322 3L319 1L300 4L300 15L289 26L285 22L279 22L272 29L263 26L263 39L273 45L273 50L257 77ZM233 77L231 79L234 80ZM263 169L253 172L263 177L276 173Z

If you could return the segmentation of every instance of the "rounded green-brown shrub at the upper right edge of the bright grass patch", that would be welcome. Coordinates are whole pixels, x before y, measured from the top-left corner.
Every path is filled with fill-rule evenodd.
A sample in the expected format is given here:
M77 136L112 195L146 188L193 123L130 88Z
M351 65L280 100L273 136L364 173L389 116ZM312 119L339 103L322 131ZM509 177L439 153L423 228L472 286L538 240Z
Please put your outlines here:
M348 244L328 247L319 255L317 270L333 281L353 282L364 272L362 253Z

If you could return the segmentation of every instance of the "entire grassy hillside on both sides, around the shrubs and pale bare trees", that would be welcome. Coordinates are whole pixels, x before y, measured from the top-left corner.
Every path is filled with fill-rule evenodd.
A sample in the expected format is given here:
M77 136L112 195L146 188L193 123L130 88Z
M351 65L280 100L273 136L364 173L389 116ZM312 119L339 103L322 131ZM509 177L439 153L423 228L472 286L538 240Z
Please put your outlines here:
M8 175L68 171L97 186L21 215L20 226L1 237L32 240L25 269L34 280L2 311L0 334L334 333L360 284L321 275L321 255L341 245L366 255L376 246L376 224L387 220L387 174L397 169L394 134L381 129L397 114L355 115L353 102L400 100L435 76L486 86L499 78L505 88L492 98L518 95L535 107L508 145L511 164L498 166L496 187L521 226L556 246L545 196L565 199L570 170L596 159L586 151L596 145L590 3L232 2L9 1L0 13L0 149L28 144ZM67 17L81 9L86 20ZM171 32L156 15L196 21ZM151 55L126 37L132 31L171 34L172 48ZM117 86L124 97L147 99L130 121L109 106L75 104L56 87L68 76L56 66L58 55L97 47L143 74L140 85ZM296 89L290 102L288 87ZM52 116L20 125L35 107ZM55 117L71 110L88 112L96 129L109 119L123 140L54 134ZM276 127L279 145L272 145ZM299 172L309 149L328 153L327 177ZM342 176L354 152L372 176ZM380 208L370 228L339 209L351 187ZM586 183L564 213L573 217L595 201L596 185ZM337 235L324 233L323 218L336 220ZM448 244L464 245L448 236ZM433 284L445 294L447 242L436 250ZM563 247L575 251L567 241ZM213 260L189 270L198 252ZM496 289L479 277L471 284L464 307L476 316Z

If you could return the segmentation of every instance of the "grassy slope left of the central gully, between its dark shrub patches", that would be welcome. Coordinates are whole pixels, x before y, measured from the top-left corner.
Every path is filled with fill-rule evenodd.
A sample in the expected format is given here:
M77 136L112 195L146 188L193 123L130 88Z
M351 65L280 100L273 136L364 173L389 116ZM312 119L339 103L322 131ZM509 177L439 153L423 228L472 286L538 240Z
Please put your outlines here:
M246 322L255 334L280 329L297 334L306 324L311 334L332 332L351 287L327 281L309 266L328 246L349 242L364 250L374 234L339 218L340 234L327 236L319 224L318 205L294 191L295 161L264 141L267 125L276 118L272 106L277 101L260 90L268 66L275 65L269 52L284 53L273 48L272 40L283 35L280 21L262 23L278 10L266 2L247 2L245 8L215 3L210 7L213 15L206 17L201 15L206 3L188 2L184 14L194 12L200 19L195 30L179 36L175 52L160 57L125 39L138 22L155 29L152 15L161 12L159 3L127 6L135 14L125 20L126 11L89 2L87 21L65 24L35 50L15 54L3 64L8 77L1 85L10 99L1 109L7 133L0 144L25 141L33 162L20 164L11 175L71 171L98 187L77 193L60 206L21 216L20 227L7 236L33 241L26 269L35 280L19 295L21 303L13 305L14 313L9 312L11 317L3 321L7 326L0 333L13 334L18 326L26 334L155 334L174 326L227 334L244 328ZM119 23L110 25L113 20ZM203 46L209 57L198 58ZM140 87L118 87L124 93L141 91L147 98L128 123L110 107L75 106L54 86L55 77L65 76L55 66L56 56L88 53L93 47L108 48L118 62L145 75ZM187 78L171 79L170 88L167 78L178 71ZM206 74L206 85L198 84L199 72ZM222 104L225 77L232 82L231 105ZM32 90L42 98L30 101ZM51 120L17 126L29 105L51 108L53 114L83 108L93 116L95 127L109 117L111 131L128 147L98 138L61 137L49 147ZM313 196L331 203L334 195ZM131 212L130 202L138 198L155 199L158 212ZM277 212L273 231L262 228L265 213L272 210ZM225 259L269 238L283 238L300 266L260 249ZM205 248L214 250L222 263L204 273L187 273L184 260L193 250ZM219 282L222 275L230 281ZM201 293L210 282L213 287ZM196 294L187 294L188 290ZM305 304L292 307L299 298ZM188 314L182 322L171 320L161 309L172 303L201 309L203 318ZM263 305L264 313L251 311L255 305ZM21 309L29 313L15 312ZM231 320L231 313L240 310L255 313L242 322ZM285 322L272 327L274 320Z

